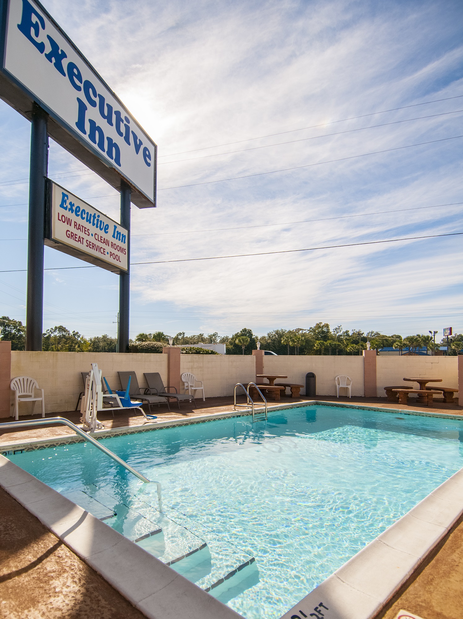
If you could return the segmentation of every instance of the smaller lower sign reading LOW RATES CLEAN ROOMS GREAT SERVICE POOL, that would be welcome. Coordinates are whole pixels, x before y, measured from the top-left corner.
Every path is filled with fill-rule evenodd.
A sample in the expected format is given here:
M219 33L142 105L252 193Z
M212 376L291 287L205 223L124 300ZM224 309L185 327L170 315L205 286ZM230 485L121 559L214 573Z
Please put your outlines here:
M130 232L47 179L45 245L113 273L129 271Z

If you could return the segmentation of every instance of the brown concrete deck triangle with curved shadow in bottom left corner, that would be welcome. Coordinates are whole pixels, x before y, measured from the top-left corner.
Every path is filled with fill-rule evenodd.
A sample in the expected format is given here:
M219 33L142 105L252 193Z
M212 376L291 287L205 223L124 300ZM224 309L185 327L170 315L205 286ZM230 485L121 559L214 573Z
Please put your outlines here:
M146 617L2 488L0 539L4 619Z

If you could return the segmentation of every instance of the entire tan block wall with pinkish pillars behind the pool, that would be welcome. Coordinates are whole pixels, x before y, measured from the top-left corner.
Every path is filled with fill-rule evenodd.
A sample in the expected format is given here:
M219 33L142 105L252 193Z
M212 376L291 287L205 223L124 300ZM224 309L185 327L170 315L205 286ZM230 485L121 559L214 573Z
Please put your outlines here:
M12 410L14 400L9 391L9 379L15 376L32 376L40 387L45 389L46 413L74 410L79 393L83 390L81 372L89 371L92 362L98 363L100 370L108 379L111 388L120 388L118 371L136 372L140 387L146 387L144 372L159 372L164 384L169 384L168 366L172 355L151 353L67 353L67 352L11 352L11 375L7 376L10 352L9 342L0 342L4 352L1 366L5 417ZM175 352L179 349L175 348ZM248 384L256 380L257 367L263 366L258 373L285 374L287 379L276 382L293 382L304 385L301 394L305 394L306 373L314 372L317 377L317 395L335 396L335 376L347 374L353 380L353 396L369 396L374 391L374 361L376 363L376 396L384 397L384 387L388 385L407 385L403 377L420 378L434 376L443 378L443 386L459 385L458 364L460 362L460 384L463 394L463 357L382 357L360 356L324 356L324 355L177 355L175 363L170 363L170 384L178 383L180 374L191 372L203 381L206 397L232 396L236 383ZM177 359L180 357L180 360ZM171 360L172 361L172 360ZM367 367L368 365L368 367ZM0 368L0 369L1 369ZM364 368L368 371L365 373ZM175 374L175 376L174 376ZM262 382L262 379L259 379ZM0 385L0 386L1 386ZM183 383L182 383L183 386ZM410 386L416 387L410 383ZM436 384L438 386L438 384ZM367 393L365 392L367 389ZM180 389L179 389L180 391ZM374 393L371 393L373 396ZM463 395L461 396L463 400ZM8 411L8 406L9 411ZM1 409L1 407L0 407ZM20 405L20 415L30 414L31 404Z

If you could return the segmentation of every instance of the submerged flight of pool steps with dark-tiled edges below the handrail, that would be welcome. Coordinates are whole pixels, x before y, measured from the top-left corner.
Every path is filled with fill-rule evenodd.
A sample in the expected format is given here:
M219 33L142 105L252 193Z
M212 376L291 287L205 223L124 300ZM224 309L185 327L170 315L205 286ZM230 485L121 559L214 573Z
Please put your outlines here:
M102 484L63 494L80 499L94 516L103 514L110 527L224 604L259 581L249 553L165 504L159 513L154 488L141 487L131 496L127 488Z

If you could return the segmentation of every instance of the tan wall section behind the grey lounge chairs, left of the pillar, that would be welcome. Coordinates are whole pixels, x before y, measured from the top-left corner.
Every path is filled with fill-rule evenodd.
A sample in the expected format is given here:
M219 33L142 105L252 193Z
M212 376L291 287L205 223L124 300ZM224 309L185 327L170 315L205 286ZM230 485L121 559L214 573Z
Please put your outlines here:
M111 389L121 388L118 371L135 371L140 387L148 386L144 372L159 372L164 384L167 384L167 355L154 353L13 350L11 378L32 376L38 386L45 390L45 413L64 412L75 409L79 393L84 391L81 372L89 372L92 369L91 363L97 363L99 369L103 370L103 376ZM11 401L14 401L13 397ZM31 409L32 404L20 404L19 414L30 415Z

